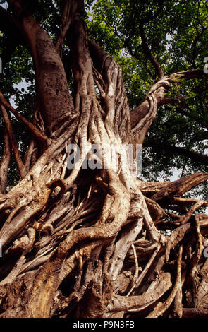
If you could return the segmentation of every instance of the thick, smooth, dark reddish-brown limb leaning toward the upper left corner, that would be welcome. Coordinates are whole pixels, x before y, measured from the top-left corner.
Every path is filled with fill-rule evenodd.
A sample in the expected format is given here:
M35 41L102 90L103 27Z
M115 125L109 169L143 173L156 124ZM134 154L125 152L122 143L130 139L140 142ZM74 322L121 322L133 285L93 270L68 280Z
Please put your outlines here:
M37 23L23 1L8 0L16 29L30 49L35 64L37 101L47 125L66 112L73 112L63 63L47 32Z

